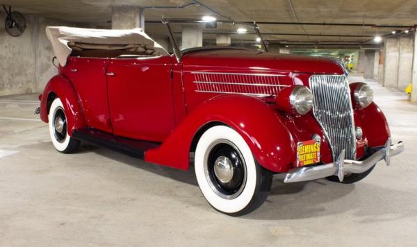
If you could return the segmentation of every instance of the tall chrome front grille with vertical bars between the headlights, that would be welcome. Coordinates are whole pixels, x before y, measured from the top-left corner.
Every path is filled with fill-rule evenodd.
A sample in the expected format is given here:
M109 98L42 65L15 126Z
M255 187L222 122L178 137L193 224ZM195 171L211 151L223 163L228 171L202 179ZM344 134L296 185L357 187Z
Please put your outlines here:
M332 146L333 158L345 149L345 158L356 159L356 139L350 89L346 76L310 77L313 114Z

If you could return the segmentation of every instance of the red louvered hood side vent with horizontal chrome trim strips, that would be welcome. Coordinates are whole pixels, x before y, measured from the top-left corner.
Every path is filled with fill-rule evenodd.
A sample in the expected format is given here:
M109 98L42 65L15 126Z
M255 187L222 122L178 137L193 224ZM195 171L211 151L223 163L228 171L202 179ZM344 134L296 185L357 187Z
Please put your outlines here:
M253 96L276 95L281 87L280 74L240 74L218 72L192 72L195 92L219 94L247 94Z

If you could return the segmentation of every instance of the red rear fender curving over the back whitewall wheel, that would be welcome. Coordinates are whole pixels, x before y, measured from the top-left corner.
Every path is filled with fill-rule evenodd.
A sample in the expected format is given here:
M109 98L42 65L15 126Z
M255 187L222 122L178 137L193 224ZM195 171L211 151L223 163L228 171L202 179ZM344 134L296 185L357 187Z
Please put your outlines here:
M83 110L79 104L79 97L70 82L65 76L54 76L45 86L40 101L40 119L48 122L49 106L52 96L56 95L63 102L65 117L67 117L68 135L72 135L72 130L86 128Z

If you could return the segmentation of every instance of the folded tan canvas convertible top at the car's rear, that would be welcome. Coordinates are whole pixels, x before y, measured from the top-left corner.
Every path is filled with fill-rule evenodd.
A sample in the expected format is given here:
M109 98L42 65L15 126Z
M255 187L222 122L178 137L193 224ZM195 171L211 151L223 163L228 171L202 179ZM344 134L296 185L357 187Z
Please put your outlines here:
M142 28L113 30L48 26L47 37L61 66L65 66L73 50L125 50L153 56L168 54Z

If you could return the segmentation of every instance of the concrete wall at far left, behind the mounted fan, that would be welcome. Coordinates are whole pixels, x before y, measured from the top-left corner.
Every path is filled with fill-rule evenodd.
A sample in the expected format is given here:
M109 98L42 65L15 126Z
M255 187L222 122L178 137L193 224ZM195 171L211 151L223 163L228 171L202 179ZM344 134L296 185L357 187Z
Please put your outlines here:
M42 92L49 78L57 73L51 64L54 53L45 27L69 24L31 15L25 17L26 31L20 37L10 37L1 25L5 14L0 12L0 95Z

